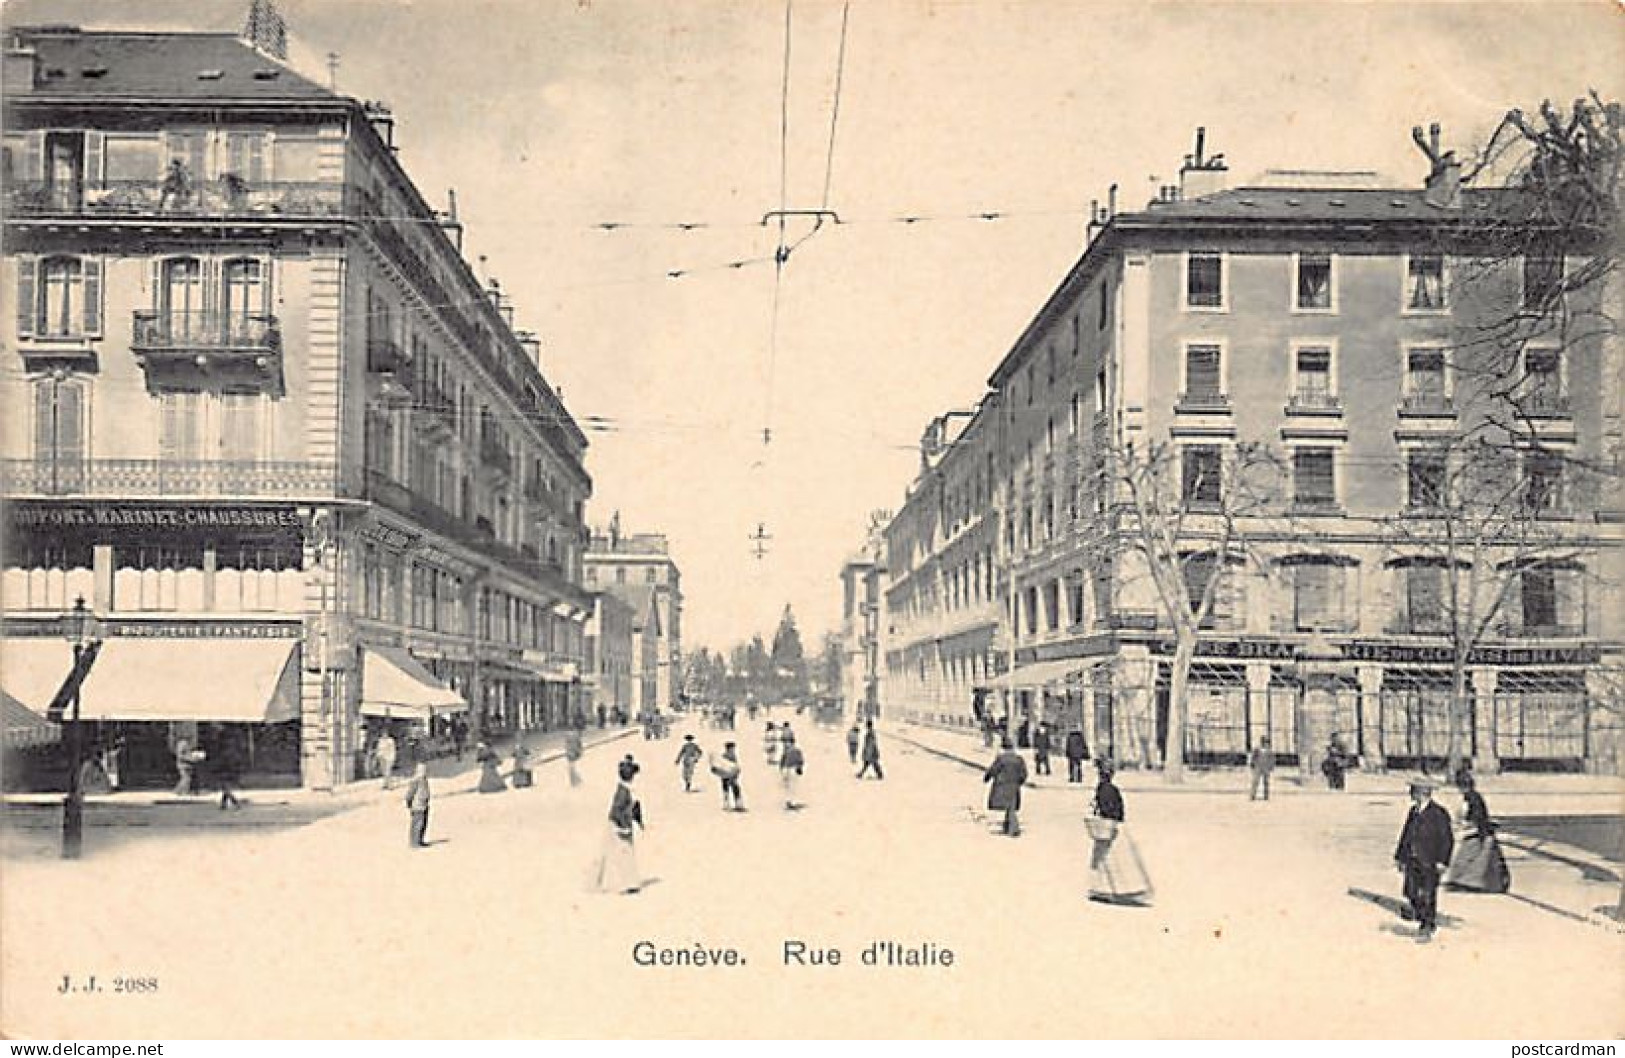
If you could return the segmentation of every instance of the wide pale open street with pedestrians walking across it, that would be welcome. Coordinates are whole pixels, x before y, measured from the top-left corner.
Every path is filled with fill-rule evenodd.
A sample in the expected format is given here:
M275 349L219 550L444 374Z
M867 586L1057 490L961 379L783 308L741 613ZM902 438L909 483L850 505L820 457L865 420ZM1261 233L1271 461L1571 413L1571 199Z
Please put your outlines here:
M284 830L110 842L67 865L5 863L3 1021L13 1037L1133 1035L1615 1037L1618 931L1510 897L1445 894L1419 946L1378 902L1398 876L1393 790L1276 800L1123 782L1157 884L1149 908L1086 900L1082 788L1029 790L1027 832L990 830L968 767L884 735L884 782L856 782L838 733L795 723L804 811L785 813L760 723L679 728L561 764L531 790L436 790L429 850L400 793ZM749 811L715 780L684 795L682 730L741 743ZM975 746L980 751L980 746ZM648 830L635 895L587 892L613 765ZM1058 765L1064 772L1064 762ZM1487 787L1495 801L1495 787ZM1552 800L1552 798L1547 798ZM1563 800L1563 798L1558 798ZM1575 800L1575 798L1570 798ZM1519 804L1536 803L1524 796ZM1607 811L1607 796L1547 811ZM1454 808L1451 804L1451 808ZM1523 808L1519 808L1523 811ZM1602 881L1510 848L1518 891ZM1528 882L1528 884L1526 884ZM1566 887L1566 889L1565 889ZM1586 897L1586 894L1581 894ZM1589 899L1589 897L1586 897ZM634 946L736 949L744 965L640 967ZM840 965L785 965L783 944ZM871 967L873 941L934 944L952 965ZM58 995L63 975L102 991ZM114 991L115 978L156 990Z

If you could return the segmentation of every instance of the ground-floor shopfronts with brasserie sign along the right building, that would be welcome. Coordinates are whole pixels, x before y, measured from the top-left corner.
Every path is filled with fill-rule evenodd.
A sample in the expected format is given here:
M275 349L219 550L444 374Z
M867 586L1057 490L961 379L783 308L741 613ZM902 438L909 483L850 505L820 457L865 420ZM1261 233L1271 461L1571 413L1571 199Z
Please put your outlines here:
M1012 733L1046 723L1081 730L1090 756L1157 765L1172 710L1172 644L1095 637L1024 648L944 712L936 699L895 702L899 713ZM895 684L894 684L895 686ZM1185 759L1245 764L1266 736L1279 762L1320 767L1336 743L1367 769L1438 769L1450 754L1456 700L1450 653L1391 642L1334 644L1305 657L1294 640L1202 640L1191 663ZM1612 774L1625 749L1622 657L1599 644L1485 647L1464 673L1454 709L1459 746L1482 770Z

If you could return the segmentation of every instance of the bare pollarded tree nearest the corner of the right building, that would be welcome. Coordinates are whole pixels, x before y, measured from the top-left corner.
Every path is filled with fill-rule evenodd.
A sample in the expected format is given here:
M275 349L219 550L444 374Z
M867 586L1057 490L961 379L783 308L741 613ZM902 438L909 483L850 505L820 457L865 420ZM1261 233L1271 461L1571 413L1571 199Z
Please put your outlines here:
M1276 491L1280 465L1256 444L1133 442L1112 452L1118 496L1112 540L1118 569L1154 587L1159 624L1173 634L1164 777L1185 778L1191 661L1201 629L1238 566L1258 566L1251 527ZM1124 569L1126 567L1126 569ZM1138 567L1138 569L1136 569Z

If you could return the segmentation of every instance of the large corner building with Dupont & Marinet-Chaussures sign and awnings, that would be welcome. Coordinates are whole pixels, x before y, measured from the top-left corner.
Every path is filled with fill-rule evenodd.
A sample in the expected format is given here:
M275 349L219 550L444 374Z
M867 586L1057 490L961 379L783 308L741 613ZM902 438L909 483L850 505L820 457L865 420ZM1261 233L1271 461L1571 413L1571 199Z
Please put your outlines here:
M0 645L125 783L349 780L578 696L585 436L377 104L229 34L5 37Z

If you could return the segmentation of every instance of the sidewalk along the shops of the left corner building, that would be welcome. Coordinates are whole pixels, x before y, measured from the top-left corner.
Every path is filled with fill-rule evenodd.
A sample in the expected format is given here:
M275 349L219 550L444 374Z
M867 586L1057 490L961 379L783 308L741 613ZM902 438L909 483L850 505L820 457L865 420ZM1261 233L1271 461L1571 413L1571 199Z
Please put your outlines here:
M635 735L640 728L588 728L582 738L583 751ZM526 731L531 767L541 767L564 759L564 731ZM492 744L502 757L502 775L512 772L515 736L505 736ZM470 793L479 785L479 765L473 748L463 759L445 756L429 761L429 777L437 791L447 795ZM250 826L288 827L325 819L359 804L370 804L384 796L396 796L408 782L408 772L398 770L392 788L384 788L382 778L362 778L338 790L239 790L244 808L219 811L219 791L205 788L195 796L176 796L171 790L132 790L84 798L84 826ZM60 826L60 793L6 793L0 798L3 826L37 829Z

